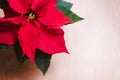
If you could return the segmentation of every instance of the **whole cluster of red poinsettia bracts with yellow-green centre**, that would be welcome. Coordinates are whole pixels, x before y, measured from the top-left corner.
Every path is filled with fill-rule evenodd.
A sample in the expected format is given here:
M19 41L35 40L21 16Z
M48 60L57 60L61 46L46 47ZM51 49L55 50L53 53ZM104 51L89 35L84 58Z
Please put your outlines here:
M19 41L23 55L34 61L36 48L48 54L67 52L60 28L71 22L56 8L56 0L7 0L0 18L0 44Z

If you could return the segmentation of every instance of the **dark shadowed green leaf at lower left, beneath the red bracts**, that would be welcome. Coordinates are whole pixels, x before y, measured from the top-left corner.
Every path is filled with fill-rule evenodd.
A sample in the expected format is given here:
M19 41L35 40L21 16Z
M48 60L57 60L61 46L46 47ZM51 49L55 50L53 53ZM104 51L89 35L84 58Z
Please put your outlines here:
M25 62L25 60L27 60L28 58L27 58L27 56L22 55L22 49L21 49L20 45L16 44L13 49L15 51L15 55L16 55L18 62L20 64L23 64Z

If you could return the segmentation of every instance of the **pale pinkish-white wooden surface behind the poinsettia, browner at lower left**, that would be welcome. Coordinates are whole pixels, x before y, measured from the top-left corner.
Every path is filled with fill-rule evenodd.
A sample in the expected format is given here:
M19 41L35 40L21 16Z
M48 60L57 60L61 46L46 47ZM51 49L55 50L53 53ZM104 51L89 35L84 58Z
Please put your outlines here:
M26 68L31 63L15 72L4 68L1 61L0 80L120 80L120 0L67 1L85 18L64 27L71 54L53 56L45 76L36 66Z

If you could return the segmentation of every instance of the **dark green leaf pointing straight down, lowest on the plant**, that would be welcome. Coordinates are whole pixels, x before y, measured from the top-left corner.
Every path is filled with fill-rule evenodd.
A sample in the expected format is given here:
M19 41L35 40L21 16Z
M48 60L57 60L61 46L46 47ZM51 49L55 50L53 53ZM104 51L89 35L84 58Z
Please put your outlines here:
M42 52L38 49L36 50L35 63L44 75L50 66L51 57L52 55L50 54Z

